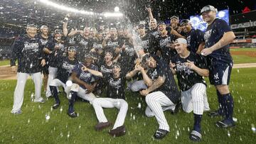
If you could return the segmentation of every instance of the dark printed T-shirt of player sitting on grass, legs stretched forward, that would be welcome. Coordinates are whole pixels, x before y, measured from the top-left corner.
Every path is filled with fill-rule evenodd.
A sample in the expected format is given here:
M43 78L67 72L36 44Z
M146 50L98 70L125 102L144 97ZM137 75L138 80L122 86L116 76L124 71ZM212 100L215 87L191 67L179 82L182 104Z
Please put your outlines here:
M125 99L124 89L126 79L120 74L119 78L114 78L112 74L103 74L103 79L107 82L107 97L112 99Z

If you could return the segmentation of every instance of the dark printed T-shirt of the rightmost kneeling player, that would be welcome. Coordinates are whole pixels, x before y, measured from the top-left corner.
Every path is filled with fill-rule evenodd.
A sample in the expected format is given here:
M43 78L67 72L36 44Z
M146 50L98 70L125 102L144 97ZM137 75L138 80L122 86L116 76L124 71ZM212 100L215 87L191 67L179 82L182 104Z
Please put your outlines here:
M190 52L190 55L188 55L186 58L182 58L180 55L172 57L171 62L176 65L178 87L181 89L181 91L191 89L191 87L193 87L193 85L196 83L206 84L206 81L201 75L186 66L187 60L193 62L196 67L207 69L206 59L194 52Z

